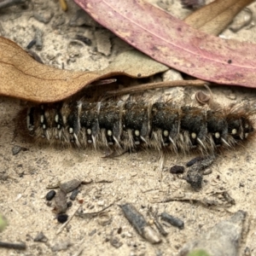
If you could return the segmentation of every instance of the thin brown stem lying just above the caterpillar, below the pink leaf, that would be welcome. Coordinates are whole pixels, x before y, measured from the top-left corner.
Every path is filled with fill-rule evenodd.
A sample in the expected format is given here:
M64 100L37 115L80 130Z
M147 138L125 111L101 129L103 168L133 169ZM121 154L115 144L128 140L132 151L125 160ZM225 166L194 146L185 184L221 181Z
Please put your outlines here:
M207 81L203 80L175 80L175 81L164 81L159 83L150 83L150 84L139 84L135 86L130 86L120 90L109 90L106 92L107 96L113 95L121 95L126 93L136 93L139 91L156 89L156 88L166 88L166 87L174 87L174 86L204 86L208 84Z

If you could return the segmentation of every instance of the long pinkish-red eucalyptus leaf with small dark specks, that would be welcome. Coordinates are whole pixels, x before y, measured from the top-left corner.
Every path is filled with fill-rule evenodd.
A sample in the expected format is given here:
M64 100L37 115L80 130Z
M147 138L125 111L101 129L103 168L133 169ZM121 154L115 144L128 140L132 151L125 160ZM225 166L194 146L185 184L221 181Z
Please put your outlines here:
M207 35L142 0L74 2L156 61L198 79L256 87L255 44Z

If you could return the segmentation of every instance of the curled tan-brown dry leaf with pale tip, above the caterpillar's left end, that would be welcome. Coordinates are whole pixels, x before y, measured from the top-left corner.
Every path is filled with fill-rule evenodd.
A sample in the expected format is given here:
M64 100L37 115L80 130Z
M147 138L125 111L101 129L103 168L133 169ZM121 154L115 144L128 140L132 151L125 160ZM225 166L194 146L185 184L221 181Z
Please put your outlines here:
M109 67L98 72L73 72L48 67L32 59L19 45L0 37L0 94L31 102L57 102L98 79L112 75L140 78L168 69L140 52L123 53ZM131 62L129 58L133 61ZM139 60L142 60L141 65ZM139 71L139 73L138 73Z

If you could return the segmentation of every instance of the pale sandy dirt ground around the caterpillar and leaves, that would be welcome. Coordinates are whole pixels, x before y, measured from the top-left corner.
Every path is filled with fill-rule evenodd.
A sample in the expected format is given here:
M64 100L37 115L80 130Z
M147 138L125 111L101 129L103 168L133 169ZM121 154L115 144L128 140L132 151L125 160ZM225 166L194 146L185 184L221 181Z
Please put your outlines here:
M34 37L32 26L42 29L43 49L32 49L47 65L61 68L63 62L67 69L96 70L107 67L115 55L130 49L103 28L68 26L68 21L79 9L72 1L67 1L67 13L60 9L58 1L37 0L32 3L29 9L12 7L1 10L1 33L26 48ZM180 8L177 0L161 3L180 18L189 14L188 10ZM256 3L253 3L253 15L256 13L255 9ZM48 24L32 17L33 12L49 14L50 11L54 16ZM64 21L55 26L57 20ZM256 43L255 32L255 26L247 26L240 32L227 31L224 35L227 38ZM92 45L69 47L70 40L77 33L91 38ZM105 38L104 43L101 42L101 37ZM97 50L100 49L100 44L103 54ZM254 90L219 86L213 88L212 93L214 99L225 106L229 103L249 103L255 108ZM181 97L186 103L193 102L194 95L195 90L190 88L172 90L172 96ZM245 148L225 151L219 156L211 167L212 173L204 176L203 188L200 192L195 192L183 179L169 172L170 166L183 164L192 155L170 155L160 181L159 154L154 151L141 151L106 159L102 158L102 152L94 150L56 149L27 143L26 137L18 137L15 131L16 116L24 105L20 100L5 97L0 99L0 212L9 220L8 228L0 234L0 241L26 241L27 249L19 252L1 248L1 255L73 255L78 251L81 241L84 244L81 255L177 255L186 241L201 236L208 228L224 218L230 218L231 213L238 210L248 213L249 224L241 241L239 255L243 255L246 247L250 248L251 255L256 255L255 140ZM13 155L14 145L28 150ZM100 211L117 201L108 209L112 220L110 224L102 225L97 217L84 219L75 216L67 224L67 228L56 235L61 224L55 220L52 207L46 205L45 195L49 191L46 187L50 183L73 178L93 180L93 183L80 187L78 198L84 200L84 212ZM99 183L101 181L103 182ZM177 193L190 193L195 198L212 199L215 192L224 190L235 199L235 206L209 208L182 201L157 203ZM221 198L215 200L221 201ZM150 219L147 214L148 207L154 207L158 208L159 213L166 211L182 218L185 227L178 230L170 225L165 226L169 235L162 237L163 241L159 245L151 245L137 235L125 219L118 206L125 202L137 207L147 220ZM71 214L78 206L78 201L75 201L67 214ZM119 228L122 228L120 234ZM48 238L46 243L33 241L38 232L44 232ZM113 238L122 243L119 248L113 247L108 241ZM70 246L66 250L53 252L52 247L60 242Z

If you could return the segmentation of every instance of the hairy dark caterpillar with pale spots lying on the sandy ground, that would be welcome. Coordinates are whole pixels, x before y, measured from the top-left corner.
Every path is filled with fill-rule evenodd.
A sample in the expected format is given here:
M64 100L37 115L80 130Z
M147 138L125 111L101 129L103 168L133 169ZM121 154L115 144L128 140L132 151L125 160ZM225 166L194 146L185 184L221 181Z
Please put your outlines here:
M21 115L22 116L22 115ZM155 148L162 152L213 154L253 135L253 112L212 110L172 102L62 102L26 110L22 133L40 142L108 148L112 152Z

